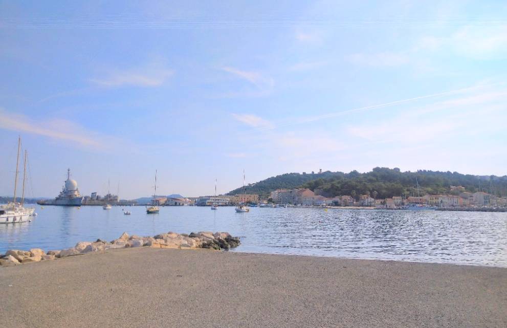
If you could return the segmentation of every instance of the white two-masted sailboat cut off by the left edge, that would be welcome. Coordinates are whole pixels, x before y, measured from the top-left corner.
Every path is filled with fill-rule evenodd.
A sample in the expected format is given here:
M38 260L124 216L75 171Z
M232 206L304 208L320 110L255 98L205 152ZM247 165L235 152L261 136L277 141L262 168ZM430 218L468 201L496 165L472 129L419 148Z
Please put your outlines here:
M23 171L23 193L21 195L21 203L16 203L16 189L17 189L17 174L19 173L19 150L21 148L21 137L17 141L17 158L16 158L16 173L14 176L14 198L13 201L0 206L0 223L15 223L30 221L30 216L35 216L35 208L25 207L25 180L27 173L27 157L28 151L25 150L25 169Z

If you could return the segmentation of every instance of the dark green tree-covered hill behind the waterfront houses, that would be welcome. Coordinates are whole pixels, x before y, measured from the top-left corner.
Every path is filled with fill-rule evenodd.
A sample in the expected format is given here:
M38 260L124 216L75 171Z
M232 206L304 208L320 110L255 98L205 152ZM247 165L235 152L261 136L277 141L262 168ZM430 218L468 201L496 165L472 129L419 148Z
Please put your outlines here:
M370 194L376 198L389 198L401 195L417 195L416 178L421 195L426 193L450 193L451 185L461 185L467 191L486 191L498 196L507 196L507 176L472 176L458 172L440 172L419 170L401 172L400 169L376 167L370 172L349 173L326 171L321 174L287 173L262 180L246 187L247 193L267 196L276 189L305 187L312 190L321 189L323 195L352 195L359 198L361 194ZM241 192L241 188L229 194Z

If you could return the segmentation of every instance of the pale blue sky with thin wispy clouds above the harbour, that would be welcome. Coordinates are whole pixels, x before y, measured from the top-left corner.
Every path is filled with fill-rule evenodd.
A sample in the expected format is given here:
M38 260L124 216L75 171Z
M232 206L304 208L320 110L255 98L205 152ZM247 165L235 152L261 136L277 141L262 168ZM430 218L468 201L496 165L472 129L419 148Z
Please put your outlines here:
M0 42L0 195L18 135L28 196L507 174L505 1L0 1Z

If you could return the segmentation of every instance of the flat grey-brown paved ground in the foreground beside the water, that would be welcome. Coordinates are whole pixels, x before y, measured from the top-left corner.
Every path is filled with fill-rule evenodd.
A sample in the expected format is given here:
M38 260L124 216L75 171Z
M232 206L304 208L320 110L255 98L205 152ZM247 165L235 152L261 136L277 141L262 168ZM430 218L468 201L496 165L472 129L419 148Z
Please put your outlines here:
M0 268L0 326L506 327L507 269L125 249Z

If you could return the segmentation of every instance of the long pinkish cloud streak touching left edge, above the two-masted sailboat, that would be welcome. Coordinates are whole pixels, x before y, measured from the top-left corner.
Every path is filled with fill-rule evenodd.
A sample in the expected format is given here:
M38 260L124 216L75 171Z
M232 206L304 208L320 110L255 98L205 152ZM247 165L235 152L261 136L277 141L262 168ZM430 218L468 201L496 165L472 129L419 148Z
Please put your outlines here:
M104 149L111 138L100 135L83 126L64 119L38 120L28 116L7 113L0 108L0 129L48 137L90 149Z

